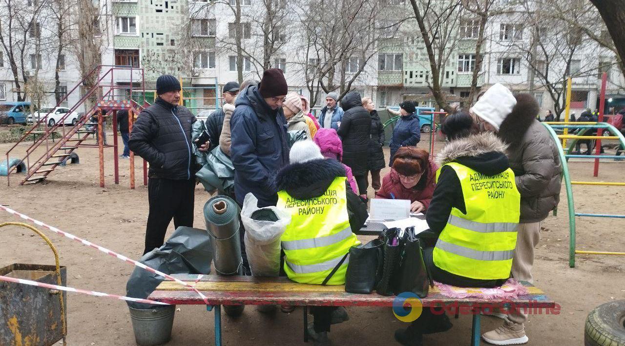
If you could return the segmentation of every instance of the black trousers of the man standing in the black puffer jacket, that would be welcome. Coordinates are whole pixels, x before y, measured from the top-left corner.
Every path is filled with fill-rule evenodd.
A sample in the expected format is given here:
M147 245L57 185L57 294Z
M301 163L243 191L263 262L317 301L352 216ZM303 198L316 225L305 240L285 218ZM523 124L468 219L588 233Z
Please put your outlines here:
M143 254L161 247L171 219L174 227L193 227L195 205L195 179L148 179L150 210L146 229L146 248Z

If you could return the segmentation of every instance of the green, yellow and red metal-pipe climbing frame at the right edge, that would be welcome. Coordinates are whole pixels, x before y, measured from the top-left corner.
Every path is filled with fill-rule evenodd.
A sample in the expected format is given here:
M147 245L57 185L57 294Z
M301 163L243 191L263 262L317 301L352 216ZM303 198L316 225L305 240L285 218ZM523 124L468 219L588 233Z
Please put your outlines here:
M600 159L618 159L618 156L601 155L601 140L616 139L619 144L625 147L625 137L616 127L604 122L604 104L606 96L606 83L607 74L604 72L602 76L601 95L599 103L599 121L598 122L569 122L570 102L571 102L571 77L569 77L567 84L567 104L565 111L564 122L543 122L542 124L549 131L554 141L556 142L559 152L560 161L562 162L562 179L564 180L564 187L566 189L566 197L569 210L569 267L575 267L575 255L587 254L587 255L625 255L625 252L606 252L606 251L583 251L576 249L576 217L612 217L617 219L625 219L625 215L614 214L593 214L593 213L581 213L575 212L575 205L573 200L572 185L602 185L602 186L625 186L625 182L590 182L590 181L571 181L571 175L569 174L568 160L571 158L590 158L594 159L594 176L599 175L599 160ZM563 129L564 134L558 135L554 129ZM569 134L569 129L577 129L579 132L576 134ZM592 132L593 129L597 129L596 136L586 136L588 132ZM610 132L611 136L603 136L603 131ZM568 148L564 149L567 145L567 140L571 140L571 144ZM562 140L562 143L560 142ZM596 141L596 152L594 155L576 155L568 154L573 151L579 140L594 140ZM556 214L556 211L554 211Z

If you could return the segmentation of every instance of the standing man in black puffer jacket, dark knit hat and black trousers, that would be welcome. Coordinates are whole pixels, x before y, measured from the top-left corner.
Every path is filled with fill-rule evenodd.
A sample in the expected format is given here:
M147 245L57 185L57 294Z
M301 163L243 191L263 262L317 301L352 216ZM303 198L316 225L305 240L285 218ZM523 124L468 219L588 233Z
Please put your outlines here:
M196 120L180 101L180 83L174 76L156 80L158 99L133 125L130 149L150 163L149 215L144 254L161 247L171 219L174 226L193 227L195 172L192 165L191 124ZM209 143L199 150L206 151Z

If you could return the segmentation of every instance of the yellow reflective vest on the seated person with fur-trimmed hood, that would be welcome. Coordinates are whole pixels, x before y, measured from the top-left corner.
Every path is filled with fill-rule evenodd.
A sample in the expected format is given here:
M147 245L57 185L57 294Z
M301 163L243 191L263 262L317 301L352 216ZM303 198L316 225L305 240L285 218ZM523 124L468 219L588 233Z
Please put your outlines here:
M434 264L472 279L507 279L521 207L514 172L506 169L487 176L457 162L445 166L454 169L460 180L466 214L451 209L434 247ZM437 181L441 169L436 172Z

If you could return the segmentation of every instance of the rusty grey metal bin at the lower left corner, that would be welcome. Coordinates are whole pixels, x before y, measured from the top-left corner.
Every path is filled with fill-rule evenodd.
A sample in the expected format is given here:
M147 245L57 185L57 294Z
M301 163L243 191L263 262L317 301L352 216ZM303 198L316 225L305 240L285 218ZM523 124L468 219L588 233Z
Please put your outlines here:
M0 275L57 285L56 266L11 264ZM67 285L67 269L61 266L61 282ZM0 282L0 345L49 346L63 338L58 290ZM67 318L67 304L66 314ZM67 320L67 319L66 319Z

